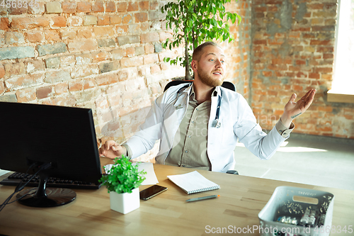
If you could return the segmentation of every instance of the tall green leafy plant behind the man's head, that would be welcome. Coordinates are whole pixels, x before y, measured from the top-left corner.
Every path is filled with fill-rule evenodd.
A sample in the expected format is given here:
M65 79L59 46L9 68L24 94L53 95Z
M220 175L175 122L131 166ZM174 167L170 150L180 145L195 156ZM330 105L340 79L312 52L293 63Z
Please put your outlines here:
M164 62L179 64L185 67L185 79L191 79L190 62L192 55L201 43L208 40L234 40L229 33L230 22L234 24L236 18L241 22L241 16L237 13L230 13L225 10L224 4L232 0L180 0L171 1L161 8L166 12L166 28L173 30L173 40L166 40L163 47L178 47L185 45L184 57L176 57L171 60L165 57ZM237 0L236 0L237 1Z

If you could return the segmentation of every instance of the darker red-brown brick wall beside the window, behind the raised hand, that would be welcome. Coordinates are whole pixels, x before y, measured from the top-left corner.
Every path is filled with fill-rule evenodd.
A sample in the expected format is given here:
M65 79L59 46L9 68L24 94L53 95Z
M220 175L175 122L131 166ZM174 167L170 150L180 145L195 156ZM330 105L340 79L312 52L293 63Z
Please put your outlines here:
M293 92L299 99L314 88L314 103L295 120L294 132L354 138L353 104L326 99L333 76L336 8L336 0L252 1L250 95L263 128L275 125Z

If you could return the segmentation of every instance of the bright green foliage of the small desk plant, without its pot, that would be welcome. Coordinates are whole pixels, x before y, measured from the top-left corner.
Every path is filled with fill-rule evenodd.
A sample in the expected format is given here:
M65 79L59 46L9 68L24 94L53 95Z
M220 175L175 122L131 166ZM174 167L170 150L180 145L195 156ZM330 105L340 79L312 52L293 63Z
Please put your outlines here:
M117 193L132 193L146 179L144 174L147 172L139 172L138 165L132 165L129 159L122 155L122 158L115 158L115 164L107 175L99 180L103 186L106 186L108 193L115 191Z

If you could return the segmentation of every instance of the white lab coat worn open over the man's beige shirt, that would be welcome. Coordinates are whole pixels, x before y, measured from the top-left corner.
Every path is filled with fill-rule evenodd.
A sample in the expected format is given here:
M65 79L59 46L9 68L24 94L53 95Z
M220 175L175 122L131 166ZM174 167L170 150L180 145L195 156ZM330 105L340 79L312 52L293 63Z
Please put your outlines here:
M139 131L126 142L132 150L132 158L151 150L156 140L160 139L156 163L164 164L173 139L179 138L177 130L187 110L191 87L192 84L171 86L154 101ZM207 130L207 156L212 171L234 169L234 148L238 140L260 159L269 159L287 137L282 137L275 127L268 135L265 134L241 94L221 86L217 86L217 91L217 96L212 96ZM221 96L221 127L215 128L212 121L215 120L218 96Z

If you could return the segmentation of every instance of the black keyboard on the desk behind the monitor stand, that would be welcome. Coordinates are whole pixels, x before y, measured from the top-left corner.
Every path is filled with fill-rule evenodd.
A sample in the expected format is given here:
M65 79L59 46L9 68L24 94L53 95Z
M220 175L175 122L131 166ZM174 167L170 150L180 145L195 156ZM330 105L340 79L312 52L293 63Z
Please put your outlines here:
M27 182L32 174L23 174L15 172L8 176L6 179L0 181L2 185L17 186L18 183L23 179L23 183ZM29 187L37 187L40 182L40 176L35 176L26 185ZM99 189L101 184L87 183L84 181L74 181L67 179L59 179L50 177L45 185L47 188L62 188L62 189Z

